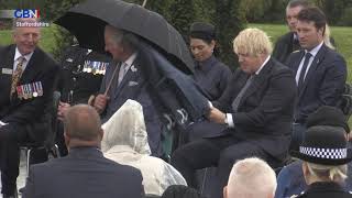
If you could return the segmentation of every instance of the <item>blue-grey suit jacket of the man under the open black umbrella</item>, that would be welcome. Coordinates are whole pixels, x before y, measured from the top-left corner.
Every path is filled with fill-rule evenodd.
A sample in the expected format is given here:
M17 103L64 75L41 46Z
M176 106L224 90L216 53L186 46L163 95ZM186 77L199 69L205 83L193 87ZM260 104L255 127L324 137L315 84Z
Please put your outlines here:
M107 68L106 76L102 79L100 87L100 94L103 94L111 77L117 63L111 63ZM136 56L133 63L134 69L128 70L119 86L112 85L108 96L110 97L106 111L102 114L102 120L106 122L110 117L128 100L132 99L140 102L143 107L144 120L146 132L148 135L148 143L153 155L162 154L161 135L162 135L162 122L156 108L152 101L148 84L142 73L143 64L139 56ZM117 72L119 73L119 70Z

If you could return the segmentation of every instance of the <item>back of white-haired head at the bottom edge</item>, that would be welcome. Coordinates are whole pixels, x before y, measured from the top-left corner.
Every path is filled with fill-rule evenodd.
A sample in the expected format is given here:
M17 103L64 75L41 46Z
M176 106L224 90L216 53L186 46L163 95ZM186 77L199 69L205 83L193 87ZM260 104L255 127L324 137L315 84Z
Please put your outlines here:
M237 162L230 173L224 198L273 198L276 175L263 160L251 157Z

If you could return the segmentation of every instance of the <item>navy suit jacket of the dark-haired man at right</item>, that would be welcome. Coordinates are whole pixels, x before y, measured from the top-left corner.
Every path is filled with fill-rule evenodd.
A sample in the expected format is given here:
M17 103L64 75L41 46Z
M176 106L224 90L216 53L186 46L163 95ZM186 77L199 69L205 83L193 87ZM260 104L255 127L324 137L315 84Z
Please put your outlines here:
M290 54L287 66L295 76L305 51ZM295 110L296 122L304 123L307 117L320 106L337 106L346 80L346 65L343 57L324 44L319 50L307 73L304 87L298 94Z

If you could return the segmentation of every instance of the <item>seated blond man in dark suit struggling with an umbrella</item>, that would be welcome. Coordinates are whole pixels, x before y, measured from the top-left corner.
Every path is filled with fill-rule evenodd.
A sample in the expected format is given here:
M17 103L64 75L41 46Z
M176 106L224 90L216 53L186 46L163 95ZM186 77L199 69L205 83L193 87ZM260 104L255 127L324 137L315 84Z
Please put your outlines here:
M182 146L172 157L172 164L191 187L196 186L196 169L218 166L217 197L235 161L257 156L280 163L286 157L296 98L294 75L271 57L272 44L263 31L240 32L233 50L241 68L208 114L209 121L228 128Z

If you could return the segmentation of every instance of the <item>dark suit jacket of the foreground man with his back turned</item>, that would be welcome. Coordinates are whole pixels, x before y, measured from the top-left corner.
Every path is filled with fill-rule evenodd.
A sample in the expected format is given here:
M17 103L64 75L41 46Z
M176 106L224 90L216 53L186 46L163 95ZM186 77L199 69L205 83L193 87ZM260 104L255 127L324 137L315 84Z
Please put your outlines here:
M31 166L23 198L141 198L142 174L103 157L96 147Z

